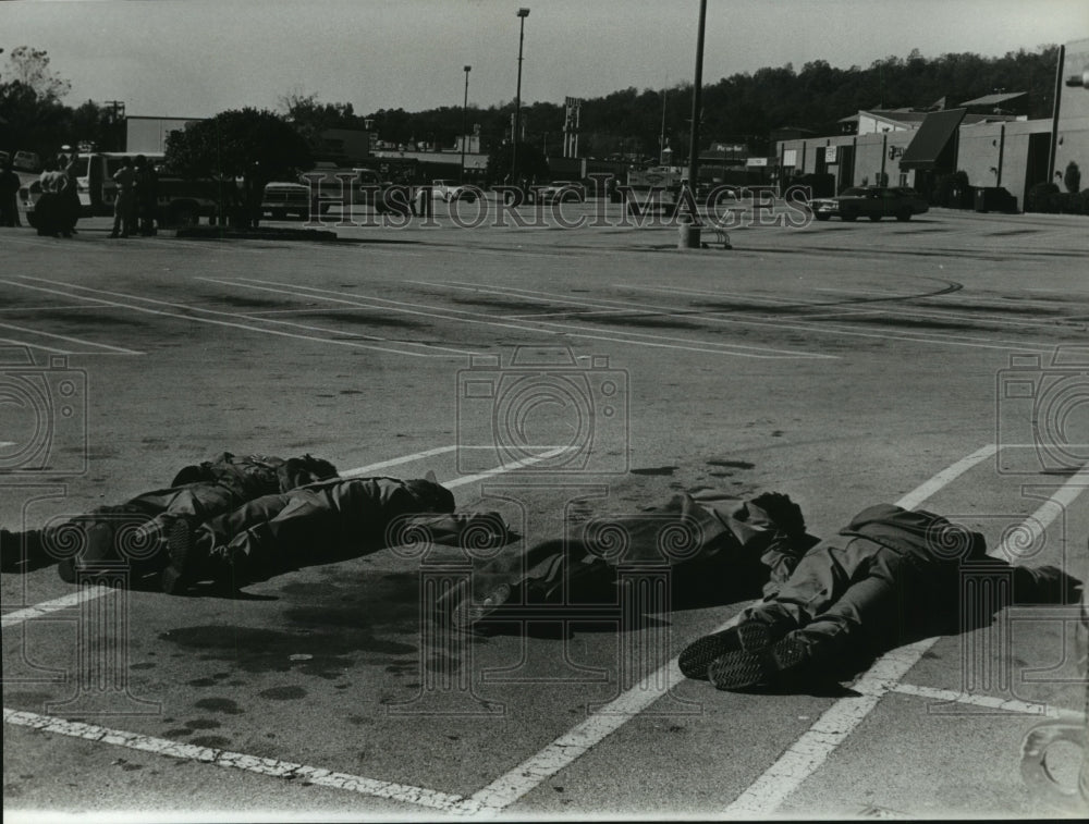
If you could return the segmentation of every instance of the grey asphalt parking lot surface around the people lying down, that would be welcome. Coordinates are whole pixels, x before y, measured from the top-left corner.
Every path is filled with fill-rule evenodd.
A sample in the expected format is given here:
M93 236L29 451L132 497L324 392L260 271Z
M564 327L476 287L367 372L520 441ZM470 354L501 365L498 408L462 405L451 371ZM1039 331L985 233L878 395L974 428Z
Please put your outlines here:
M5 469L51 440L0 475L0 524L223 451L310 452L433 470L530 542L680 490L773 489L818 536L926 505L992 554L1089 575L1084 219L742 214L732 250L678 251L675 226L597 208L467 229L440 205L335 243L0 229L0 370L58 402L8 404ZM541 458L559 447L578 459ZM436 635L421 581L465 561L389 548L234 599L5 573L5 815L1063 814L1019 764L1035 725L1084 723L1070 606L900 648L830 694L729 693L672 662L759 593L636 629Z

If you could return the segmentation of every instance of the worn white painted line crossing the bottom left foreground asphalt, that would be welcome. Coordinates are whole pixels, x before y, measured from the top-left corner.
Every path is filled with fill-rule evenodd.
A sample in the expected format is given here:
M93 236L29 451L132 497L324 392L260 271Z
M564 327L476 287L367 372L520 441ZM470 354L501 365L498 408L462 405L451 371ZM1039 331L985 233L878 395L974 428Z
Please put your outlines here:
M64 718L39 715L32 712L19 712L9 710L7 706L3 711L3 721L4 724L28 727L42 733L52 733L70 738L82 738L87 741L99 741L117 747L126 747L131 750L150 752L156 755L168 755L186 761L200 761L217 766L242 770L247 773L268 775L274 778L299 779L304 785L314 784L319 787L343 789L364 796L387 798L391 801L427 807L432 810L451 810L463 800L461 796L439 792L425 787L413 787L406 784L365 778L359 775L351 775L348 773L340 773L333 770L323 770L321 767L307 766L278 759L246 755L242 752L219 750L213 747L197 747L192 743L171 741L166 738L154 738L137 733L129 733L123 729L100 727L96 724L65 721Z

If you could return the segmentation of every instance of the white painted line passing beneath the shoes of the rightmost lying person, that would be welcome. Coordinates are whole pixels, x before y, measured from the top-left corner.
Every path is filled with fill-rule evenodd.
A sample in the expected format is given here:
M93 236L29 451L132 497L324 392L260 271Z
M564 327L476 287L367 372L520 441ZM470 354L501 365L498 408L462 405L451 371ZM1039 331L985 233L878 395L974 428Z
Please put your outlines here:
M996 450L993 445L977 450L967 457L962 458L957 463L935 475L914 492L901 499L900 505L907 508L906 504L916 500L925 500L946 483L967 472L977 464L992 457L995 451ZM711 631L722 631L736 623L737 616L735 615ZM903 650L895 650L894 652L903 653ZM895 655L890 655L891 660L898 660ZM906 657L904 657L904 660L906 661ZM877 666L877 664L874 666ZM878 667L877 672L884 677L884 673L890 669L890 666L892 666L892 664L882 664L881 667ZM910 665L904 667L904 673L906 673L909 668ZM510 807L512 803L536 788L546 779L555 775L564 767L570 766L592 747L600 743L604 738L615 733L632 718L636 717L640 712L646 710L654 703L654 701L668 692L672 686L683 677L684 676L681 674L681 669L677 666L677 659L673 659L668 664L660 667L656 673L648 675L638 685L632 687L619 698L611 701L608 705L595 712L586 721L578 724L568 733L565 733L560 738L556 738L540 752L526 759L516 767L493 780L487 787L484 787L475 792L469 799L458 805L457 811L480 815L499 814L503 809ZM873 698L873 703L876 705L877 698ZM853 712L858 713L862 709L865 708L856 704L854 705ZM865 712L859 715L859 721L865 717L866 713L868 713L870 709L872 709L872 706L865 709ZM773 780L771 783L774 784Z

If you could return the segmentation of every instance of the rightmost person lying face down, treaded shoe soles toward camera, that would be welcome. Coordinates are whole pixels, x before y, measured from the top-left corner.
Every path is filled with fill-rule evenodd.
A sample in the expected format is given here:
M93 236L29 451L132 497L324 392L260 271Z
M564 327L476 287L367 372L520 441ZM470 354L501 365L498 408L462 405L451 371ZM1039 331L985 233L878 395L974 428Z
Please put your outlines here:
M689 644L681 672L720 689L800 684L987 626L1007 604L1073 603L1079 583L1054 566L988 555L982 534L941 515L877 504L811 548L736 627Z

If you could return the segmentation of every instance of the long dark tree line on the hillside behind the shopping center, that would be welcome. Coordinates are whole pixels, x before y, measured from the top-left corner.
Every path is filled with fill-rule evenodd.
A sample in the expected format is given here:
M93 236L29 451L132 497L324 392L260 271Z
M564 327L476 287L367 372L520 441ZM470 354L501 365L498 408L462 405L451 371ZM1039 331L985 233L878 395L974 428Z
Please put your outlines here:
M705 84L701 144L748 143L760 151L767 148L774 128L794 126L819 135L837 134L839 121L862 109L921 108L941 98L953 108L996 91L1027 93L1026 113L1047 118L1052 111L1057 58L1057 46L1021 49L1000 58L950 53L928 59L915 49L907 58L888 57L866 69L839 69L817 60L800 71L788 63L738 73ZM468 122L480 124L486 142L495 143L510 134L513 111L513 102L474 107ZM460 107L415 113L380 109L366 116L374 120L381 139L393 143L451 146L462 123ZM588 98L580 109L579 153L657 157L663 133L674 150L686 153L690 116L690 84L643 91L633 87ZM547 144L550 149L562 145L562 104L523 106L523 120L530 143Z

